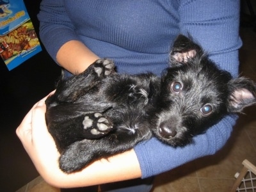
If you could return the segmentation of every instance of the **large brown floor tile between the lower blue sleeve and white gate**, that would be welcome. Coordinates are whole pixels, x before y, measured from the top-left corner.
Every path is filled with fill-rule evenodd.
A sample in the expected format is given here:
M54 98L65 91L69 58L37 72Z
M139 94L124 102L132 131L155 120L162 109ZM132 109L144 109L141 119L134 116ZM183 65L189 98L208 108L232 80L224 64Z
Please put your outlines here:
M234 131L228 144L215 156L200 159L209 166L199 169L198 177L233 179L244 159L255 159L256 152L245 130Z

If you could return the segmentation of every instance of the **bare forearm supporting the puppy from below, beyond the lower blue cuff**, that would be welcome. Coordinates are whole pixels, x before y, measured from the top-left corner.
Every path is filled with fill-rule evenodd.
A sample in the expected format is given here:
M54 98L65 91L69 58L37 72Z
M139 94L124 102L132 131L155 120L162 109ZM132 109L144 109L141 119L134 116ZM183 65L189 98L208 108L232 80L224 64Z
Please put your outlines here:
M66 174L57 166L39 166L37 170L47 183L58 188L93 186L141 177L140 164L134 150L95 161L81 172Z

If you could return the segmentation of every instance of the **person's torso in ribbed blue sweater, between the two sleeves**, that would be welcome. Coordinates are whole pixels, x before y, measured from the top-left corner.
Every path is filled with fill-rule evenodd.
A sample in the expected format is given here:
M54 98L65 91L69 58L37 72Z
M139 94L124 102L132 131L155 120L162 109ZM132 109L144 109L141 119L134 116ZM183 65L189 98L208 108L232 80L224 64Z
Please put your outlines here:
M77 35L95 54L113 59L118 72L159 74L168 66L179 34L176 1L63 1Z

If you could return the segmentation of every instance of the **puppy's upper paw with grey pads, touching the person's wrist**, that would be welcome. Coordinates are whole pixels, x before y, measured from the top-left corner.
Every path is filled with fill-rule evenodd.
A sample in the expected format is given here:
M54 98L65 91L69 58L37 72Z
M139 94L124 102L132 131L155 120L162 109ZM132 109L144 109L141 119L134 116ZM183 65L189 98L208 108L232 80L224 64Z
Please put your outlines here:
M115 65L113 61L108 59L100 59L95 61L94 70L98 77L109 76L112 72L114 72Z

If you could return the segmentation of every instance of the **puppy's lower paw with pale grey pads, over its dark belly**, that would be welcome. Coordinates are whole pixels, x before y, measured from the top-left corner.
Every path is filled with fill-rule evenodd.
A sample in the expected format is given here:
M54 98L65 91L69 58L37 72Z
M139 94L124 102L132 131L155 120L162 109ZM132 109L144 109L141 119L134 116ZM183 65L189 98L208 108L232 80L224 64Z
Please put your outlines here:
M90 113L83 120L86 138L100 138L113 129L112 122L101 113Z

